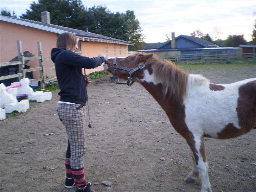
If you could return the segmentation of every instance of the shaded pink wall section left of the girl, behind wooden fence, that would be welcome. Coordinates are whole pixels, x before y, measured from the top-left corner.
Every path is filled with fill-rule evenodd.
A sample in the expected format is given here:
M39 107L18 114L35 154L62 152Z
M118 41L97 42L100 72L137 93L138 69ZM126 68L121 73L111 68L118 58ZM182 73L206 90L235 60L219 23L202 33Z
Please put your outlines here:
M56 46L57 34L32 27L12 24L0 21L0 62L8 62L18 55L17 40L21 40L22 52L29 51L38 56L37 41L41 42L44 57L50 57L52 47ZM38 60L31 60L27 63L31 68L39 66ZM51 60L44 62L45 68L53 66ZM49 70L46 75L51 77L55 75L55 70ZM39 77L39 71L33 72L33 77Z

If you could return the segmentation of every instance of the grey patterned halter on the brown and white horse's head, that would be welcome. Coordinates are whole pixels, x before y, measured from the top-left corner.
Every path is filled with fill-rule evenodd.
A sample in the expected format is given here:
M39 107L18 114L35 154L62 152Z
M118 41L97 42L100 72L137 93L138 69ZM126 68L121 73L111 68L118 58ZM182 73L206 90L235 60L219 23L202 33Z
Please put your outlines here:
M113 65L111 66L111 71L112 71L112 73L113 73L114 81L116 82L116 84L126 84L126 85L128 85L128 86L130 87L130 86L132 86L133 83L134 83L134 81L132 81L131 75L132 75L135 71L144 68L144 67L145 67L145 64L142 63L142 64L136 66L135 68L127 68L127 67L124 67L124 66L117 65L117 63L116 63L117 58L118 58L118 57L115 57L115 58L114 58L114 60L113 60ZM107 62L105 62L105 63L107 63ZM110 66L109 63L107 63L107 65ZM130 76L127 78L127 83L117 82L117 81L118 81L118 77L116 76L116 70L117 70L117 69L122 69L122 70L125 70L125 71L129 71L128 73L129 73ZM131 83L131 81L132 81L132 83Z

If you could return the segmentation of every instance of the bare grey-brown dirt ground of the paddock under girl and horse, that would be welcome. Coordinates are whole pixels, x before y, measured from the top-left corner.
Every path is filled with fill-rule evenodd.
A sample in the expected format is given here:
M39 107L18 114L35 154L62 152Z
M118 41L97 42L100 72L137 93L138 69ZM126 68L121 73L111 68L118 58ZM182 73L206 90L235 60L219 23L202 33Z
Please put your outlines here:
M223 84L256 77L255 68L189 72ZM192 168L186 141L140 84L128 87L102 78L88 93L92 128L86 127L84 167L92 190L200 191L200 180L183 181ZM56 110L58 91L52 94L52 100L30 102L26 113L0 121L1 192L74 191L64 187L67 137ZM235 139L207 138L205 148L213 192L256 191L255 129Z

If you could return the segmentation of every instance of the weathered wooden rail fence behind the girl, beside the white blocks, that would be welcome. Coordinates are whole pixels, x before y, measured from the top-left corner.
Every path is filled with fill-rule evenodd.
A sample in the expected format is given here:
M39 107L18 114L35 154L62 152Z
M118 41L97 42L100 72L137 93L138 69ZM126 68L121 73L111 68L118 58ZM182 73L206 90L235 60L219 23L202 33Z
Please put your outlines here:
M0 80L11 79L11 78L15 78L15 77L18 77L18 79L20 80L21 78L26 77L27 72L39 71L40 77L37 78L37 79L32 79L32 80L30 80L30 82L33 83L33 82L40 81L41 88L44 88L44 83L45 82L51 81L52 79L56 78L56 76L46 77L46 74L45 74L46 71L51 70L51 69L55 69L55 66L53 65L53 66L48 67L48 68L44 67L44 61L50 60L51 58L50 57L44 58L43 52L42 52L42 47L41 47L41 42L37 42L38 56L24 57L20 40L17 41L17 48L18 48L18 61L0 63L0 67L10 66L10 65L19 65L19 72L17 74L13 74L13 75L0 76ZM38 67L30 68L30 69L23 69L26 60L34 60L34 59L39 60L39 66Z

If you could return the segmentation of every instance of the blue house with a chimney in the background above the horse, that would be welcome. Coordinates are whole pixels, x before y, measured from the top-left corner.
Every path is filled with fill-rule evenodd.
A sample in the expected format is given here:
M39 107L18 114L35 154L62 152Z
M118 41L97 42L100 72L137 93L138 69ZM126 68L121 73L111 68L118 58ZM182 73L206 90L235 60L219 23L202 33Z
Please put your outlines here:
M145 49L139 51L154 52L162 58L183 58L188 54L222 55L229 53L232 56L242 55L242 49L239 47L219 47L198 37L186 35L175 37L175 33L172 33L172 40L164 43L145 43Z

